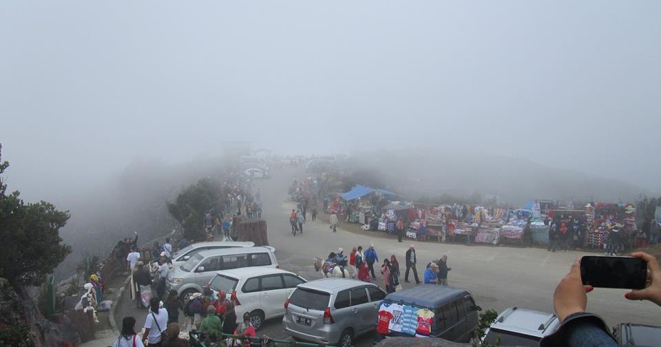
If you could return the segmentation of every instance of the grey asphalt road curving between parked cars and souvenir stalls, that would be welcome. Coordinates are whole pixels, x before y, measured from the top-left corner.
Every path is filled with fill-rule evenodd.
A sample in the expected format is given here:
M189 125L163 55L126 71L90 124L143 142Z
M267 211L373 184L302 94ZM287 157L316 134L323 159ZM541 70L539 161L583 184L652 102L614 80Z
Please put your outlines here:
M380 232L353 233L338 228L337 233L332 233L328 224L309 220L304 224L303 233L293 236L288 212L294 203L287 200L287 189L295 174L304 177L302 171L283 169L275 171L271 179L256 181L255 186L262 189L263 217L267 220L269 242L276 249L275 255L280 267L298 273L307 280L322 277L321 273L314 270L313 257L324 257L338 247L348 253L353 246L362 245L367 248L369 244L374 244L379 259L395 253L403 267L404 253L408 245L414 243L421 277L425 264L441 255L448 255L448 266L452 268L448 276L449 284L468 289L483 309L492 308L501 312L507 307L517 306L552 312L552 296L556 284L569 271L574 259L582 255L575 251L549 253L546 249L465 246L435 241L409 240L398 243L397 238L384 238ZM380 276L377 276L376 281L382 285ZM405 288L415 285L402 284ZM625 293L624 290L597 288L588 295L587 309L601 315L609 326L619 322L658 324L661 308L649 302L630 302L624 298ZM134 307L132 302L123 299L117 311L118 322L125 315L133 315L138 321L136 326L143 326L146 312ZM281 321L272 319L266 322L258 333L272 338L286 338L282 333ZM356 346L370 346L370 341L370 337L358 339Z

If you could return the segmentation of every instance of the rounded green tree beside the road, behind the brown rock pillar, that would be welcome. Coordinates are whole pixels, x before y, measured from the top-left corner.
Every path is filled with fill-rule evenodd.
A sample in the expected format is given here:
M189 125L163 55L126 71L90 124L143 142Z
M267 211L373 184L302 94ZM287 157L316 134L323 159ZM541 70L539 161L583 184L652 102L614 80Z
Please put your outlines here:
M167 210L183 227L185 238L204 240L204 214L226 196L220 182L202 178L182 191L174 202L168 202Z

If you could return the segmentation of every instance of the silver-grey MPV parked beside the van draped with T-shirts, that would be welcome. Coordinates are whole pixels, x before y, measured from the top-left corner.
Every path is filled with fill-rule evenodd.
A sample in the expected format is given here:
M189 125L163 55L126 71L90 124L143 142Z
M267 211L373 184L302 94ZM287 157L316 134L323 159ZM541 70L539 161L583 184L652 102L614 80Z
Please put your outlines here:
M285 303L282 327L295 339L351 346L355 337L374 330L384 297L375 284L345 278L300 284Z

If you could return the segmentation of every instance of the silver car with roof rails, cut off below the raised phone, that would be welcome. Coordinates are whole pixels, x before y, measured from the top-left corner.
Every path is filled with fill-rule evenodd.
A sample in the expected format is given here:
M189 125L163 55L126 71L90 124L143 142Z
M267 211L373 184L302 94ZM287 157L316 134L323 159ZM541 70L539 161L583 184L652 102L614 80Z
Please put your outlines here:
M539 346L539 341L560 326L553 313L510 307L503 311L485 331L484 341L501 346Z

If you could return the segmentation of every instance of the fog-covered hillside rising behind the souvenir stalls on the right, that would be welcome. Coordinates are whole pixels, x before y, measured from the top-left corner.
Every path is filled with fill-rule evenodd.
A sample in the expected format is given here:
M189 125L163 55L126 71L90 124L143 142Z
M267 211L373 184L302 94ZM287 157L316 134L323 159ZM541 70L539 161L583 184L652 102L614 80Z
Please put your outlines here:
M567 158L580 160L580 157ZM627 182L587 176L552 163L474 154L456 149L415 149L355 154L355 169L376 169L379 180L409 199L421 196L468 197L473 193L500 196L520 206L531 199L635 200L640 187Z

